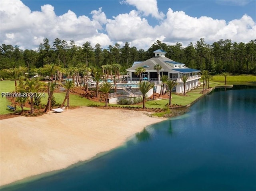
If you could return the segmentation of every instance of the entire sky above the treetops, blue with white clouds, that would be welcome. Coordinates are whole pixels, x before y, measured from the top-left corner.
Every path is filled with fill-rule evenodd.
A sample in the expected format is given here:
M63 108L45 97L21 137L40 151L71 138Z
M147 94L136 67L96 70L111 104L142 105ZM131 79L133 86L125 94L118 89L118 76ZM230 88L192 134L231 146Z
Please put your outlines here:
M255 0L2 0L0 5L0 44L22 49L57 37L102 47L128 41L138 49L158 39L184 46L201 37L209 44L256 39Z

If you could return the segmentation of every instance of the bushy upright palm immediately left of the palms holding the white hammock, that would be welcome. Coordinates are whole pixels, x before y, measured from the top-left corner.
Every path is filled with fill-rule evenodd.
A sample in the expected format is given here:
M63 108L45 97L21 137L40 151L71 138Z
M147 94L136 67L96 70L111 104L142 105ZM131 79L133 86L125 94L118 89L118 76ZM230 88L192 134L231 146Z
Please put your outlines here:
M26 79L24 90L26 93L38 93L42 89L44 89L44 84L39 82L37 78L33 78L32 80ZM33 94L30 96L30 112L34 113L34 96Z

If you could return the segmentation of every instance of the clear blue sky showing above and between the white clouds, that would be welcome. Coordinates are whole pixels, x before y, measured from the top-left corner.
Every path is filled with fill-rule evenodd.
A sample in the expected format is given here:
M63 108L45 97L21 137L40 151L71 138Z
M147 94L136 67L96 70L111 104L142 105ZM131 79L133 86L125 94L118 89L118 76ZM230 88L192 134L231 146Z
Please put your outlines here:
M110 18L134 9L134 6L121 3L122 1L119 0L22 0L22 2L32 11L40 11L41 5L51 4L57 15L72 10L77 16L89 16L92 10L102 7L106 16ZM145 3L149 2L145 0ZM184 11L192 17L208 16L228 22L247 14L256 21L256 0L158 0L157 5L165 14L170 7L174 11ZM152 20L151 23L157 24L157 21Z

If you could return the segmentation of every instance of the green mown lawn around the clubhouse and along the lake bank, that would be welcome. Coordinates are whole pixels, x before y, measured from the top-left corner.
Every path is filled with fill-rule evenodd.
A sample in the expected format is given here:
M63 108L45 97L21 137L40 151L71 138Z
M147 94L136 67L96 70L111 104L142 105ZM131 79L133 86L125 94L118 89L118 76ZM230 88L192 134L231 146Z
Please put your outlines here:
M210 81L210 87L215 87L218 85L224 85L225 77L217 75L213 76L212 80ZM254 82L254 83L253 83ZM250 84L250 85L256 85L256 76L252 75L238 75L238 76L228 76L227 77L227 84ZM208 87L208 84L207 84ZM14 87L14 81L0 81L0 92L6 93L6 92L12 92L15 89ZM192 103L194 100L202 96L200 93L202 91L202 86L194 89L188 93L186 93L186 96L183 95L176 95L172 94L172 104L178 104L185 106L187 104ZM64 100L65 93L54 93L54 97L57 103L61 104ZM42 97L42 104L47 103L48 95L45 94L45 97ZM146 107L147 108L164 108L166 104L169 103L169 99L162 99L162 100L150 100L146 101ZM0 98L0 114L7 114L11 113L12 111L7 108L7 105L10 104L10 101L7 100L5 97ZM70 95L70 106L104 106L105 103L102 102L94 102L92 100L89 100L87 98L78 96L78 95ZM127 105L118 105L118 104L110 104L110 106L120 106L125 107ZM135 107L142 107L142 104L137 105L130 105ZM29 109L29 108L26 108ZM20 111L20 108L17 109L17 111Z

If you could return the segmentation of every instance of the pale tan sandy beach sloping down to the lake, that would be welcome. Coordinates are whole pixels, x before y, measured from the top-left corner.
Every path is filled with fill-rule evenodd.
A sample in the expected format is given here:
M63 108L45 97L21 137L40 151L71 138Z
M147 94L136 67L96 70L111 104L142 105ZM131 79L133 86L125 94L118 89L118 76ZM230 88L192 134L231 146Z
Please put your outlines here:
M0 120L0 185L91 159L162 120L146 112L91 107Z

